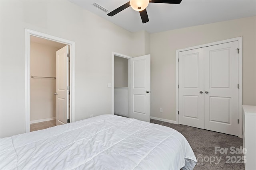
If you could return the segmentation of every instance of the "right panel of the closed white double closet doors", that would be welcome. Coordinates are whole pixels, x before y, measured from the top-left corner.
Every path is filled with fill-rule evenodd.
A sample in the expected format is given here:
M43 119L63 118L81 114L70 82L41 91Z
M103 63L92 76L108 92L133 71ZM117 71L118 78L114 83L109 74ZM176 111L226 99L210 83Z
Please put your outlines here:
M238 135L238 41L204 48L204 129Z

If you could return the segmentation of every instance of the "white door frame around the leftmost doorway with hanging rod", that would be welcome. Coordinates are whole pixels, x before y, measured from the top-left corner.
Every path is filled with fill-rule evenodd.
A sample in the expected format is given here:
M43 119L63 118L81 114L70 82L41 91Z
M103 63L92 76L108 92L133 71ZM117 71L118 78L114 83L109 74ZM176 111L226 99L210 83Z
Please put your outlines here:
M70 54L70 122L75 121L75 42L25 28L25 131L30 132L30 36L69 45Z

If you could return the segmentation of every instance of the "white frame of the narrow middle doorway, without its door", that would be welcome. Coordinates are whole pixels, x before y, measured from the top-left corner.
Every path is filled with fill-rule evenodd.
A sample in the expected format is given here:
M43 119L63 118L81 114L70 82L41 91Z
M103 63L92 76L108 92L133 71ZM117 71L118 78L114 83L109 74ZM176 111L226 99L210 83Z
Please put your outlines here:
M130 118L130 59L132 57L112 52L112 114L114 115L114 56L128 59L128 117Z

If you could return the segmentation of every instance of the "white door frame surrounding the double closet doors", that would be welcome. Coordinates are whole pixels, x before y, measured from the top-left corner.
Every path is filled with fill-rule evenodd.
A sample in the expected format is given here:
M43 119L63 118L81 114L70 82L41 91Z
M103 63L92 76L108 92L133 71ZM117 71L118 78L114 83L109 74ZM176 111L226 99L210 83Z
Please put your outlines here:
M192 50L192 49L198 49L202 47L212 46L212 45L218 45L223 43L229 43L232 41L238 41L238 137L242 138L242 101L243 101L243 78L242 78L242 64L243 64L243 37L236 37L232 39L226 39L222 41L216 41L213 43L203 44L203 45L197 45L194 47L188 47L185 49L178 49L176 50L176 122L179 123L179 116L178 116L178 109L179 109L179 89L178 89L178 82L179 82L179 63L178 63L178 57L179 52Z

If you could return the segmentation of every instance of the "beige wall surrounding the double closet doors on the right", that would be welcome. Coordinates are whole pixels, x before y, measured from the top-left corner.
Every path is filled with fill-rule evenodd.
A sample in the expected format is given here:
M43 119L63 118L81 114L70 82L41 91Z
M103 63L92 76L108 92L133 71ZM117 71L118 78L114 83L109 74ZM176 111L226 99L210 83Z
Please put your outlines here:
M176 121L176 50L240 36L243 36L243 104L256 105L254 16L152 33L151 116Z

